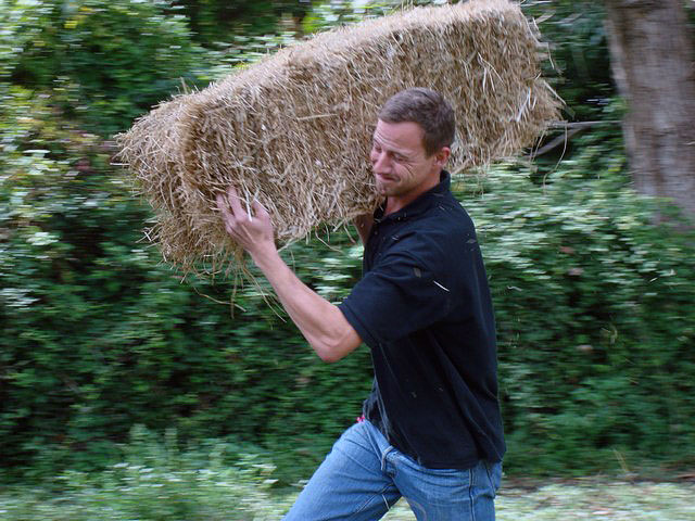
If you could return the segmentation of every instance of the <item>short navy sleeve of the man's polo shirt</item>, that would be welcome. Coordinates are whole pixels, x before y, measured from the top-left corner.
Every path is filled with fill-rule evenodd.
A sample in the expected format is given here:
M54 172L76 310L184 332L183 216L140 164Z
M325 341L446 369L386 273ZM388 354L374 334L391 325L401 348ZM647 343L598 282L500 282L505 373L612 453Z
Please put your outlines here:
M340 304L367 345L406 336L450 313L454 289L447 288L437 257L401 245L382 256Z

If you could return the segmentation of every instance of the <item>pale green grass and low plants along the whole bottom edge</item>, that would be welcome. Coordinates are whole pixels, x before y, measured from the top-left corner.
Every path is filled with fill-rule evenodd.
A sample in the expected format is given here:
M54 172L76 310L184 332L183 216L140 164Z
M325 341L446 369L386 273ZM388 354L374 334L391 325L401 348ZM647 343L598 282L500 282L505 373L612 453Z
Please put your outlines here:
M277 521L298 491L275 490L274 472L267 456L244 454L227 442L181 450L174 431L162 442L135 429L122 460L102 471L60 472L40 485L0 485L0 521ZM695 474L680 478L539 484L505 476L497 520L695 520ZM401 500L384 519L415 517Z

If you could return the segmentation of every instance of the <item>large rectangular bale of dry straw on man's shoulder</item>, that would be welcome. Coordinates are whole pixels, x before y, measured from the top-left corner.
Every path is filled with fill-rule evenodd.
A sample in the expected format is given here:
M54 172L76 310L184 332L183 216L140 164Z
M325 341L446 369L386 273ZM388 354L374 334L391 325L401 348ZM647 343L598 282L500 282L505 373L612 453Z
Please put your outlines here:
M533 27L506 0L416 8L320 34L161 104L119 136L121 157L155 209L152 239L167 262L238 267L218 192L231 185L244 204L257 199L279 244L371 212L376 114L414 86L454 106L451 170L516 154L557 118L541 59Z

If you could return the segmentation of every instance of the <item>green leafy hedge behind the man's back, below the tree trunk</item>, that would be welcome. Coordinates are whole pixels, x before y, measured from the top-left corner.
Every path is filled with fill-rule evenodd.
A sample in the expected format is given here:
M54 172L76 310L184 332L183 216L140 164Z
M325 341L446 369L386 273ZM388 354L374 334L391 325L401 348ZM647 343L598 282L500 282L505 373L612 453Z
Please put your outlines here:
M536 187L497 168L466 198L483 242L500 338L507 469L585 473L686 461L695 432L695 241L652 224L624 160L596 151ZM478 187L477 189L480 189Z

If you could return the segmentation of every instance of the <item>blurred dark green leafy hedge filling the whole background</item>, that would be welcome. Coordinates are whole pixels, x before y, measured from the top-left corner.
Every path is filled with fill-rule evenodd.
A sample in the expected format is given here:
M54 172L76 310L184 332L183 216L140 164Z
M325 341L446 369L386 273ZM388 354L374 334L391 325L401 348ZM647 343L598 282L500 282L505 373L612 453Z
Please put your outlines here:
M233 281L163 264L112 138L169 94L394 3L0 0L2 483L60 491L59 475L161 467L205 495L186 472L241 469L244 483L273 465L268 486L311 475L359 414L368 350L324 365L258 288L231 305ZM565 117L589 124L533 162L456 183L496 309L506 473L692 468L695 233L633 189L602 3L523 9L549 43ZM330 241L286 253L339 301L362 249L345 232ZM193 519L179 506L156 519Z

